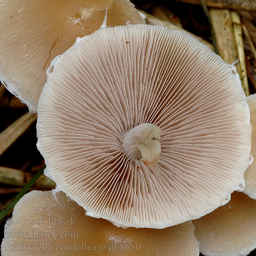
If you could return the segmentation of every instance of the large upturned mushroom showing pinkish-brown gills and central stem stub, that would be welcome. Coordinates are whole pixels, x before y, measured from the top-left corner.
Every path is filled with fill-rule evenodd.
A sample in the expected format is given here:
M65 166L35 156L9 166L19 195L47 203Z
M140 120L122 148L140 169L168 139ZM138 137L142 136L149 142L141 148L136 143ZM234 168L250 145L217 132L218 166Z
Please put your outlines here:
M101 29L53 61L38 149L57 186L127 227L199 218L241 188L250 113L233 66L160 26Z

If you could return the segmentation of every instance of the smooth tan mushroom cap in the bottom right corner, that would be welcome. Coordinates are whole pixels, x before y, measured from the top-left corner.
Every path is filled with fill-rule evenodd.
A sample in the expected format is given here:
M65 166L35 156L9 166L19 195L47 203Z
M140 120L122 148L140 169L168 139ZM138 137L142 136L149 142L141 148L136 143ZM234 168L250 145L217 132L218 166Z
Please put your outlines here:
M243 192L193 221L204 256L245 256L256 248L256 201Z

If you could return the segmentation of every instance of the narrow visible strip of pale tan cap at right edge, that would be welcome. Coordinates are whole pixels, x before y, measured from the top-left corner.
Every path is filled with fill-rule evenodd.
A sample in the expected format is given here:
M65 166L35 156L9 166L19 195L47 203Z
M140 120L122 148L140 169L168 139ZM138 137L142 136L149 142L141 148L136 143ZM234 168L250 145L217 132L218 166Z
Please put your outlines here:
M251 155L254 160L244 173L245 187L243 192L256 199L256 94L247 97L247 103L250 108L250 123L253 127Z

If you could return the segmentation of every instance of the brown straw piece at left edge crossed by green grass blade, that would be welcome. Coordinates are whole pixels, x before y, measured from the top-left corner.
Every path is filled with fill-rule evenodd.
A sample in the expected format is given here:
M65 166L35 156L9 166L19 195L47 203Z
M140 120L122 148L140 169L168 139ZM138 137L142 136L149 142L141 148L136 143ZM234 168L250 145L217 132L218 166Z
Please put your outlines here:
M25 184L33 177L29 172L22 172L17 169L12 169L4 166L0 166L0 183L9 184L13 186L25 186ZM45 175L41 175L35 182L35 186L39 188L55 187L55 182L47 180Z

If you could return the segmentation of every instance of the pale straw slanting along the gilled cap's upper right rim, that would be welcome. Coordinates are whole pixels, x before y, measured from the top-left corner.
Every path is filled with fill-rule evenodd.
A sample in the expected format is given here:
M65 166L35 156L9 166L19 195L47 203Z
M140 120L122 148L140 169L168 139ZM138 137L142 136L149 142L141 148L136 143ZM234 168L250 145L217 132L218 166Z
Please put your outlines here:
M191 35L192 37L196 38L198 41L200 41L201 43L205 44L207 47L209 47L212 51L214 51L214 48L213 48L213 45L207 41L205 41L204 39L186 31L185 29L182 29L174 24L171 24L169 22L166 22L166 21L163 21L163 20L160 20L158 19L157 17L154 17L153 15L150 15L149 13L147 12L144 12L142 10L139 10L140 12L142 12L143 14L146 15L146 23L147 24L150 24L150 25L158 25L158 26L164 26L166 27L167 29L172 29L172 30L178 30L178 31L181 31L181 32L184 32L188 35Z

